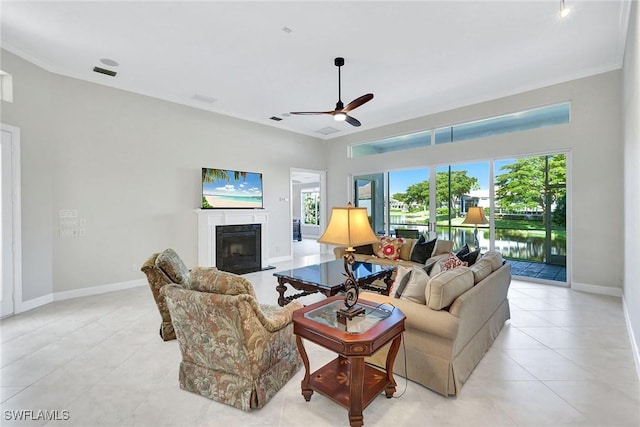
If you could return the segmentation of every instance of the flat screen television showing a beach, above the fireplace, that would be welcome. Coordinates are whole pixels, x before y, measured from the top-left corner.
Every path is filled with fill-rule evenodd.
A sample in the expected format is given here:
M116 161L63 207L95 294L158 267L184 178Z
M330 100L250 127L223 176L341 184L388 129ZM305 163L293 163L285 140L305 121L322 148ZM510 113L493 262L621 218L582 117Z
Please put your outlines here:
M202 209L262 209L262 174L202 168Z

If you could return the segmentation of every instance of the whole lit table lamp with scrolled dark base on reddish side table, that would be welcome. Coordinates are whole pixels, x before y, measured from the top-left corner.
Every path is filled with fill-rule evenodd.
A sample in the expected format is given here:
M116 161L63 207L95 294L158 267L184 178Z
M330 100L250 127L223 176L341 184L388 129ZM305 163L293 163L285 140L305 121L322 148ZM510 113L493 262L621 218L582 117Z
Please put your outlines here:
M329 225L327 225L327 229L318 239L318 243L347 247L344 255L344 271L345 276L347 276L344 282L344 305L346 308L336 312L338 320L352 319L354 316L364 312L362 307L355 307L359 291L358 282L356 282L351 268L355 262L353 253L356 250L354 246L366 245L377 241L378 236L376 236L369 224L367 208L355 208L351 206L351 203L348 203L346 208L333 208L331 210Z

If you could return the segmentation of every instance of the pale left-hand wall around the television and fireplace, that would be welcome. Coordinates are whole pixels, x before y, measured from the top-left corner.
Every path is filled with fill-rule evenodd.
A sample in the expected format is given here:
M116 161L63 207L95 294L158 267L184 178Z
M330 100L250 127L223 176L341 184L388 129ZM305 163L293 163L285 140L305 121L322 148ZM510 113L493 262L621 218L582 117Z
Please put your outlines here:
M23 299L143 279L153 252L197 262L200 168L263 173L270 259L291 256L290 168L324 169L319 140L44 71L2 51L21 128ZM305 153L304 156L300 153ZM86 237L61 238L77 209Z

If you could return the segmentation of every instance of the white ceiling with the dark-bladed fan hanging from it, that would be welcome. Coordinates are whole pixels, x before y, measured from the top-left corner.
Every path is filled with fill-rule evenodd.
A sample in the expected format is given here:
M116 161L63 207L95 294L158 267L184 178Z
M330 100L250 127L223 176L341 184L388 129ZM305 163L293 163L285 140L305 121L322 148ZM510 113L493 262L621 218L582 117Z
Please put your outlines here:
M630 2L566 4L561 20L560 0L2 0L1 46L54 73L333 138L621 68ZM362 126L283 117L335 107L336 56L342 101L375 95L352 112Z

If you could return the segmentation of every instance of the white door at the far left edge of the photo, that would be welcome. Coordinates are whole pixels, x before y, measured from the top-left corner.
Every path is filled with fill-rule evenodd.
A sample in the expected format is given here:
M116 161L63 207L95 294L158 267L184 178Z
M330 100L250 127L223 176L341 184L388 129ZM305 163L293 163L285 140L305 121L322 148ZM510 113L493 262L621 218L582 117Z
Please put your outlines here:
M0 134L0 317L5 317L18 312L22 299L20 129L0 124Z

